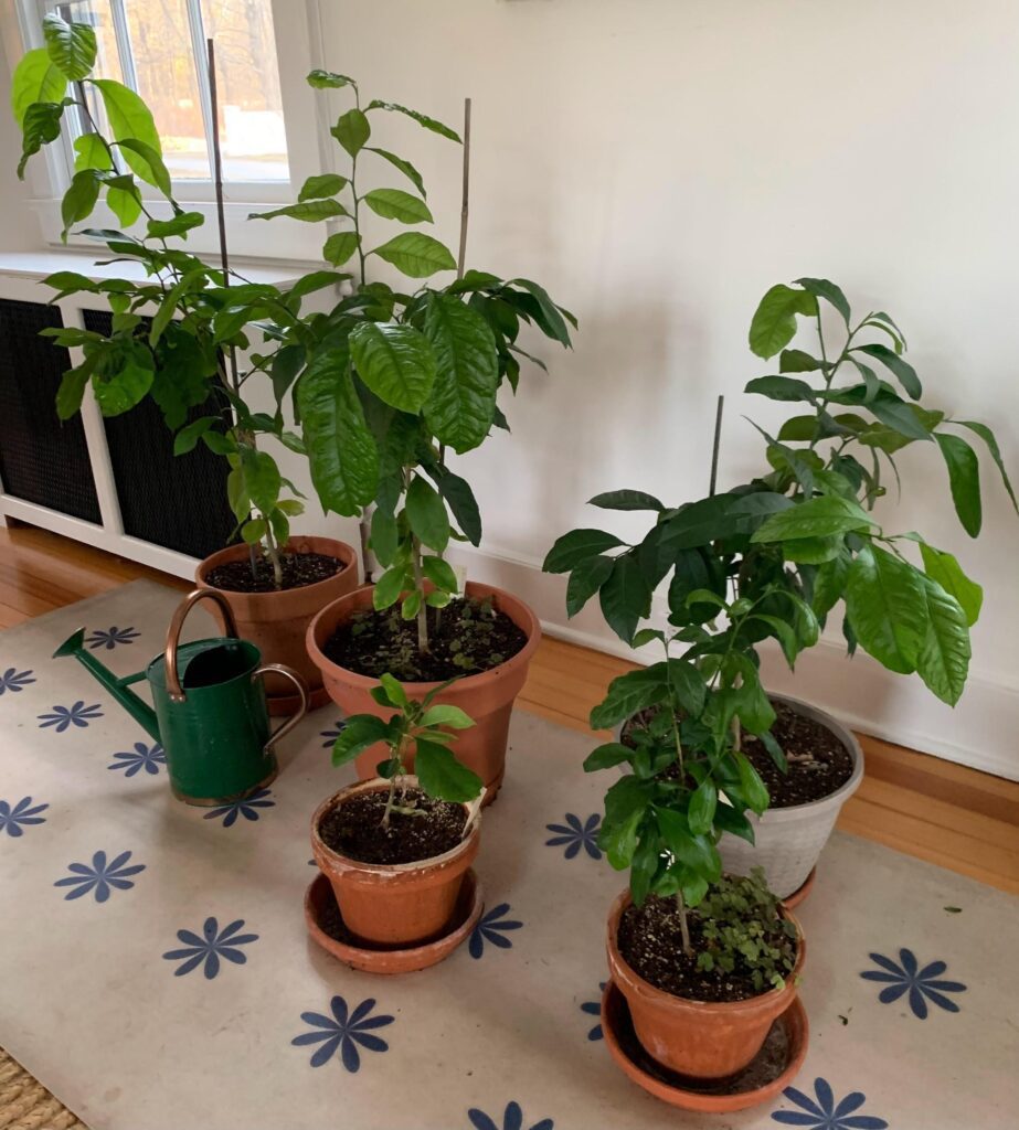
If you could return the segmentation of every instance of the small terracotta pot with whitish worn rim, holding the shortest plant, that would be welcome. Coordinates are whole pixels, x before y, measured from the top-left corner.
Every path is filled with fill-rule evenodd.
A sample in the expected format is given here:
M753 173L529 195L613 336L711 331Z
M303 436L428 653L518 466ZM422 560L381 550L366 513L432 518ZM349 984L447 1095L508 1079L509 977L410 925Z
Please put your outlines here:
M417 783L416 777L407 780ZM326 845L319 825L328 812L359 793L388 788L389 782L379 777L361 781L319 805L311 818L311 850L355 940L396 949L420 946L446 932L464 876L477 855L478 820L451 851L416 863L362 863ZM472 807L464 808L469 817Z

